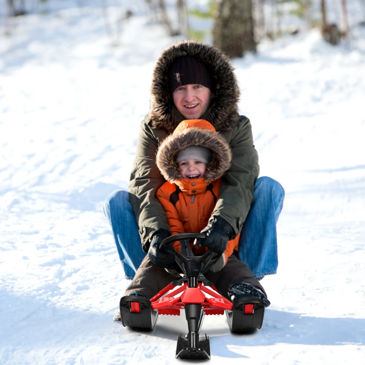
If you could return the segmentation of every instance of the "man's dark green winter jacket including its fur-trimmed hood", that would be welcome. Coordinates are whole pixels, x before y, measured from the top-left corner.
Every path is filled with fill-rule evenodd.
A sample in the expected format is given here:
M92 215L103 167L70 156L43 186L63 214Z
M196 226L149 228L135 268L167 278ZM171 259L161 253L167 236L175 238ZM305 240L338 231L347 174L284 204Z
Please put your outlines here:
M227 139L233 158L230 169L222 178L219 199L212 215L219 215L230 223L235 235L245 222L253 201L254 182L259 174L250 121L239 116L237 111L239 89L229 59L218 49L195 41L183 41L168 47L156 62L150 112L141 124L129 184L129 200L145 252L156 230L170 230L165 211L155 196L157 189L166 181L155 159L160 143L184 119L173 105L166 74L175 58L187 54L203 61L214 75L215 97L211 107L200 118L208 120Z

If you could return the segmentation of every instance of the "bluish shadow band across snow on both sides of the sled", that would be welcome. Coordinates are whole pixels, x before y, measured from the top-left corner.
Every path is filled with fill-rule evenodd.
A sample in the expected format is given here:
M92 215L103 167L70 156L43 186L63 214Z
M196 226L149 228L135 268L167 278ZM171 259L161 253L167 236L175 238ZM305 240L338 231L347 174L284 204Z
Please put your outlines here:
M113 323L111 314L62 308L29 294L17 295L1 290L0 303L2 357L9 361L15 348L24 351L52 348L57 351L72 344L83 348L100 345L107 349L110 345L122 343L123 346L126 343L165 346L160 339L176 342L180 333L187 333L183 311L180 316L160 316L153 331L141 332ZM268 309L259 331L231 333L224 316L211 318L208 327L205 329L203 324L202 334L206 332L210 336L212 356L227 358L247 358L234 352L237 346L365 344L365 319L356 318L312 317Z

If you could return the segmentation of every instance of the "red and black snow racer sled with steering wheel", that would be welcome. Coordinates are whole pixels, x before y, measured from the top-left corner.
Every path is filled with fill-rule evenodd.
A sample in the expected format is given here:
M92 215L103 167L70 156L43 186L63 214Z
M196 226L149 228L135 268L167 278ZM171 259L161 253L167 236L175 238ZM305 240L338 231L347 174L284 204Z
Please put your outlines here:
M164 239L160 248L175 241L194 238L205 238L205 234L176 234ZM220 295L214 284L201 274L208 263L217 257L212 251L202 256L183 256L175 250L175 260L184 276L172 281L151 299L133 295L122 297L120 316L123 326L152 330L159 314L180 315L180 310L184 309L189 333L178 336L176 358L199 360L210 359L209 336L205 334L204 337L199 337L205 314L223 314L226 311L233 332L260 329L265 310L262 299L245 297L232 303Z

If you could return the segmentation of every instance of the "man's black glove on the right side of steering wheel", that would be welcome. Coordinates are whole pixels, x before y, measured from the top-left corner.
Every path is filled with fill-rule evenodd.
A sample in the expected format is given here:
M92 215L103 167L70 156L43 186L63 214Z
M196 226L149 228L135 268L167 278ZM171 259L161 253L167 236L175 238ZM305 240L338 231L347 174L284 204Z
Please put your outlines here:
M205 239L196 239L194 245L208 247L211 251L221 255L226 250L227 243L234 231L226 220L219 216L212 216L201 233L206 234Z

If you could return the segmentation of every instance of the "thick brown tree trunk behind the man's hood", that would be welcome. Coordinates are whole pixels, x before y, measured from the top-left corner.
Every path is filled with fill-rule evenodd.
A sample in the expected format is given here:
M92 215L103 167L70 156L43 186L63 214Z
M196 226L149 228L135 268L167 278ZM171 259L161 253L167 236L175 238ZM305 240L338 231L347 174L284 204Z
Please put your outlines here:
M256 51L251 0L218 0L213 44L231 58Z

